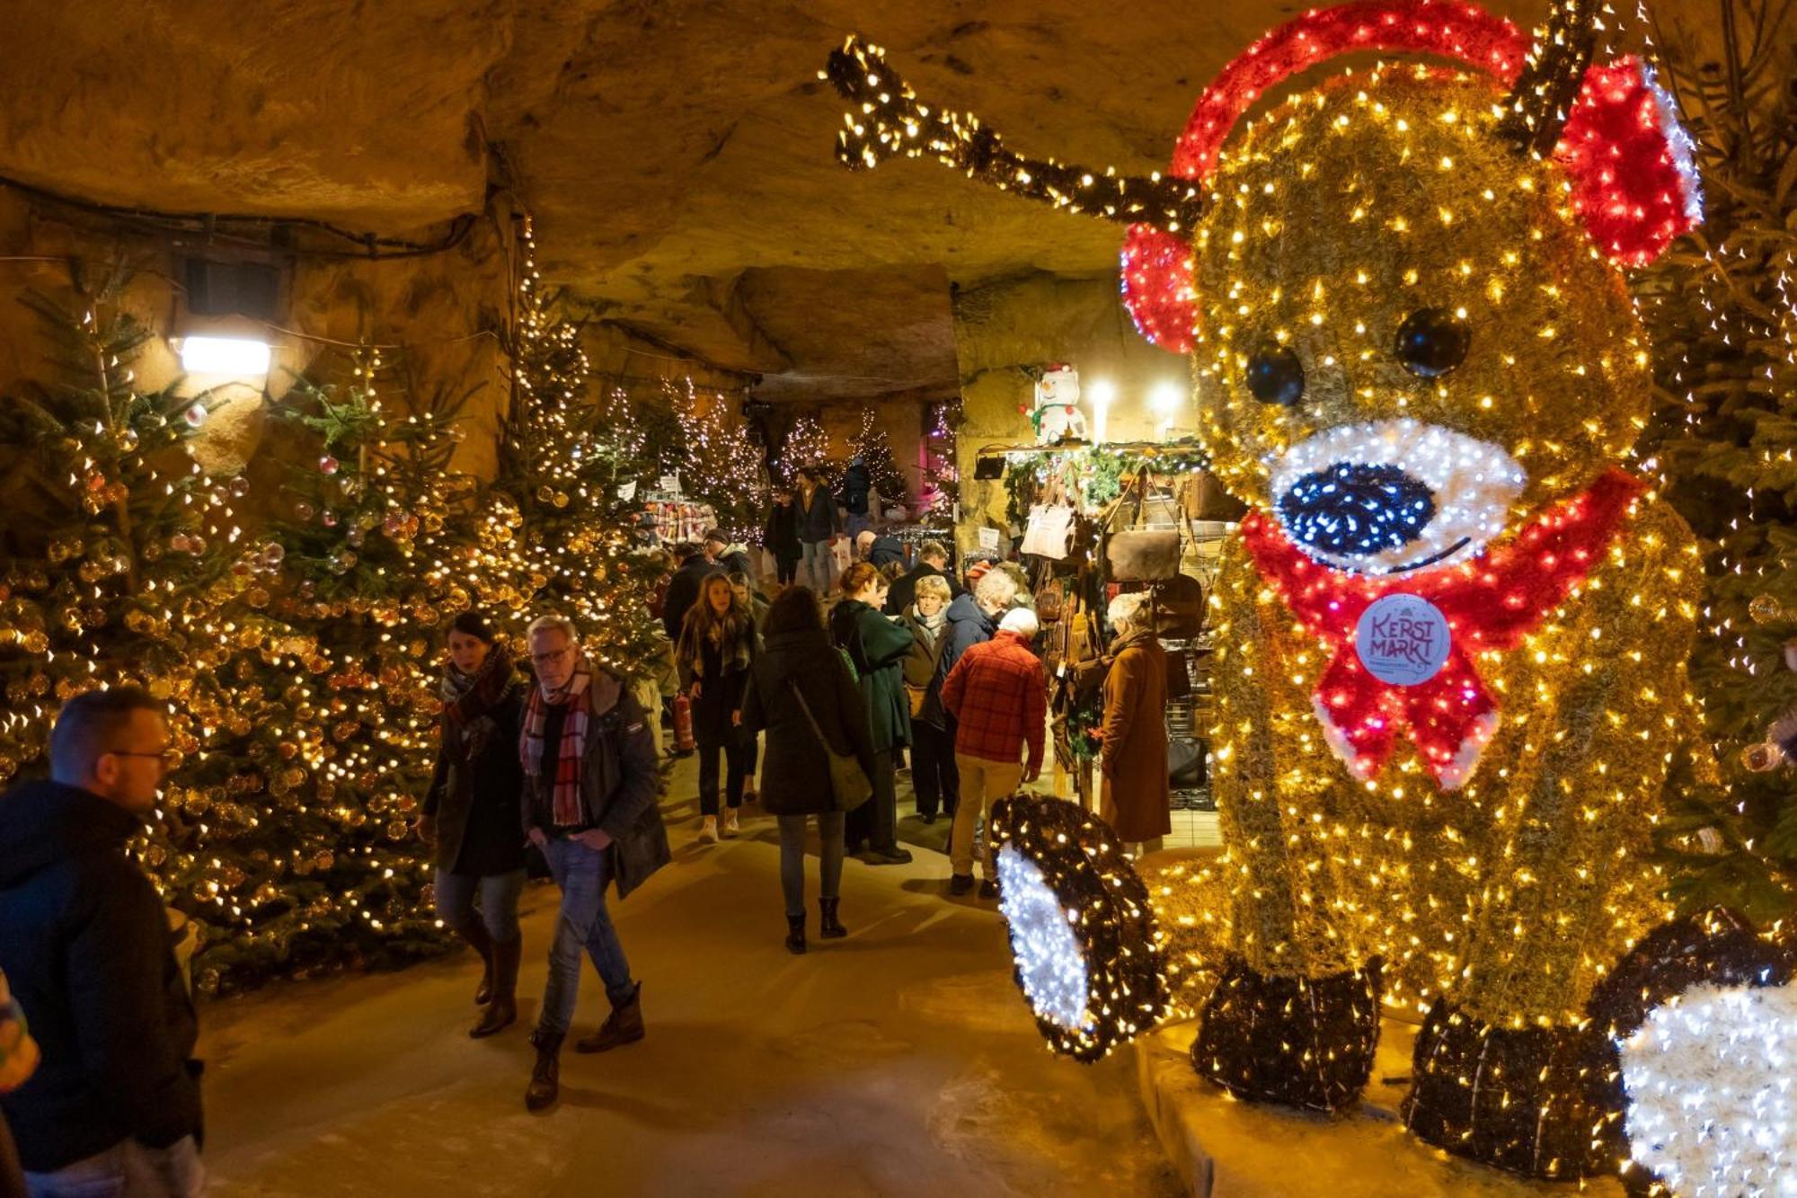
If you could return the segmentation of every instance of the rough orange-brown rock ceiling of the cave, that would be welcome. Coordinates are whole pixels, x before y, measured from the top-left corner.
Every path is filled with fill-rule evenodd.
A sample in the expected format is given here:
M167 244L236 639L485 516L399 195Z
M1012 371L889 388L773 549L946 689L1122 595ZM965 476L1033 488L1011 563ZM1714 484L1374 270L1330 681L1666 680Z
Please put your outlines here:
M1497 4L1529 22L1544 5ZM478 212L489 146L541 268L771 399L949 394L951 284L1103 277L1121 230L920 162L850 174L845 32L1026 153L1164 165L1204 83L1296 4L133 0L14 5L0 174L383 234Z

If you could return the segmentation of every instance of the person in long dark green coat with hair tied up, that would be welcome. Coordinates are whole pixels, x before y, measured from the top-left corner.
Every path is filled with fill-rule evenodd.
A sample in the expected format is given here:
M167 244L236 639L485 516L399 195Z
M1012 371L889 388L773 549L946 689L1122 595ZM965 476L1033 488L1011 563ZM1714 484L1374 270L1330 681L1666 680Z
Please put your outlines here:
M904 865L911 854L898 847L893 750L911 743L911 700L904 691L911 633L881 615L886 581L866 561L843 570L839 586L843 597L830 612L830 640L855 667L873 725L873 797L843 822L845 849L854 853L864 840L868 853L863 860L870 865Z

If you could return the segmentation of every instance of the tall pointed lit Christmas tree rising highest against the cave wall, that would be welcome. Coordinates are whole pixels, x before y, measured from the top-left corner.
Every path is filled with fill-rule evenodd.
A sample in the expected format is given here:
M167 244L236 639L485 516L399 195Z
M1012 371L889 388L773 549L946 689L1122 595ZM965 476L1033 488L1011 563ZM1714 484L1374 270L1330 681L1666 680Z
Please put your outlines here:
M636 486L656 473L634 432L607 412L616 396L593 396L580 324L537 277L525 219L519 245L518 318L509 338L512 407L500 450L496 493L521 522L516 586L530 610L559 610L580 628L602 666L636 676L651 667L654 577L634 527Z

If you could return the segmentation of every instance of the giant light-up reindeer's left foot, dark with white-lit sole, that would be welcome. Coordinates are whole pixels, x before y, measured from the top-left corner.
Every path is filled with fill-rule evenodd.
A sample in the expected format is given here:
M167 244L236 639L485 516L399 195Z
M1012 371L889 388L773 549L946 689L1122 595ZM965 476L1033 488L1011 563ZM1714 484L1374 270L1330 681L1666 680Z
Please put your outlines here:
M1098 1061L1154 1027L1166 1013L1159 934L1111 826L1014 795L994 806L992 835L1017 988L1049 1047Z

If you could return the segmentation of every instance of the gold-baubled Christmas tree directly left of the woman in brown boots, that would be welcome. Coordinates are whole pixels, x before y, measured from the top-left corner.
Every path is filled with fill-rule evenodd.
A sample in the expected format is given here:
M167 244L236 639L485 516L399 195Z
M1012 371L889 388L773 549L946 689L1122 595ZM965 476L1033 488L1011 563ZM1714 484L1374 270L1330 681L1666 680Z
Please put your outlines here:
M230 745L259 786L178 797L248 858L239 926L210 937L203 989L442 943L410 835L435 764L442 624L503 603L482 570L473 482L447 469L453 405L403 414L383 403L385 374L358 353L347 383L300 380L275 408L302 448L280 462L255 554L279 577L244 594L261 653L234 673L264 718Z

